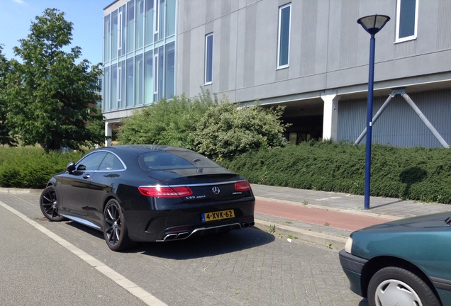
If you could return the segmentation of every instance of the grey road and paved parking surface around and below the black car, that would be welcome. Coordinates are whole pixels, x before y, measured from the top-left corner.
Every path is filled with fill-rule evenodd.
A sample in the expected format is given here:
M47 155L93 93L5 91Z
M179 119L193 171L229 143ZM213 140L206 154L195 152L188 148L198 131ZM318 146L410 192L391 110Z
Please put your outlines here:
M38 198L0 193L1 305L367 305L322 245L251 227L116 253Z

